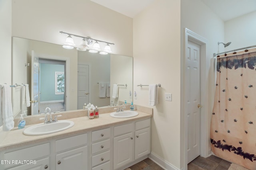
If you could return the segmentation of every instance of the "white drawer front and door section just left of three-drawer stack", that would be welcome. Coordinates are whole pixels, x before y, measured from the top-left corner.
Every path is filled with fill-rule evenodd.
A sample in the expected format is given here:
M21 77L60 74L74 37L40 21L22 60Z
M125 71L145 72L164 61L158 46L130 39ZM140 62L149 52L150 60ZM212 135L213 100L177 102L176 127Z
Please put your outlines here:
M88 170L87 133L56 141L56 170Z

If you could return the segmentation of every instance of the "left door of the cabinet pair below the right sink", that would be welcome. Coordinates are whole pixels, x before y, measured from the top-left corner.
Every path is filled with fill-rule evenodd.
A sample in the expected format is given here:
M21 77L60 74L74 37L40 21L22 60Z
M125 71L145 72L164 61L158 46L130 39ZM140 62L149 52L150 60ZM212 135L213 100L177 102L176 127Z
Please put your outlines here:
M114 169L134 160L134 133L114 137Z

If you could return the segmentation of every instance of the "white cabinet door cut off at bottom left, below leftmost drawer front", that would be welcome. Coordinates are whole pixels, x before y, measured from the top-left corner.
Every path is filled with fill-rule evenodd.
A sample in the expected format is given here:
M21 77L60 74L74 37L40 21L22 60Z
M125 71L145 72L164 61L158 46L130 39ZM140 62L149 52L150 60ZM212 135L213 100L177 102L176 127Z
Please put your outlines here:
M50 170L50 159L49 157L36 160L36 162L31 162L31 164L24 164L20 166L15 166L8 170Z

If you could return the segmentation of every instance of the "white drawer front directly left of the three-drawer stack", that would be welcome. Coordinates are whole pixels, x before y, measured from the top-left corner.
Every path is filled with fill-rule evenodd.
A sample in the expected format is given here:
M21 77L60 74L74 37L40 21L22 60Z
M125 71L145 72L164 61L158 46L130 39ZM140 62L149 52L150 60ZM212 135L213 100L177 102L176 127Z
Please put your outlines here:
M74 147L79 147L87 144L87 133L82 135L77 135L73 137L68 137L65 139L60 139L56 141L56 152L71 149Z

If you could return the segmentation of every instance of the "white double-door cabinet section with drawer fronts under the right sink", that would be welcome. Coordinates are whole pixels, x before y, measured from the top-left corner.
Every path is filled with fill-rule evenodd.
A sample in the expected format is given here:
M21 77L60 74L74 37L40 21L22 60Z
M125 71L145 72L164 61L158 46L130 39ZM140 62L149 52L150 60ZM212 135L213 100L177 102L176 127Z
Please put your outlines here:
M114 127L114 169L149 154L150 136L150 119Z

